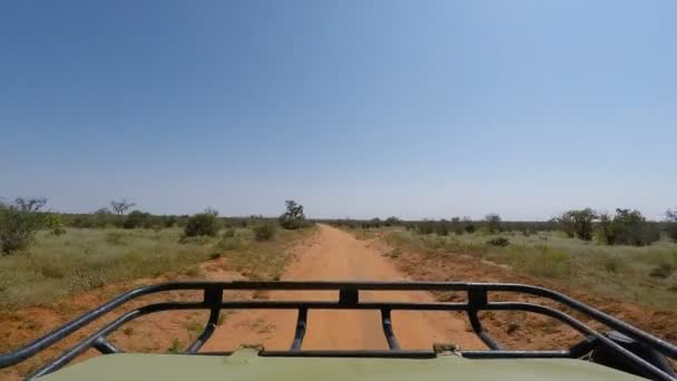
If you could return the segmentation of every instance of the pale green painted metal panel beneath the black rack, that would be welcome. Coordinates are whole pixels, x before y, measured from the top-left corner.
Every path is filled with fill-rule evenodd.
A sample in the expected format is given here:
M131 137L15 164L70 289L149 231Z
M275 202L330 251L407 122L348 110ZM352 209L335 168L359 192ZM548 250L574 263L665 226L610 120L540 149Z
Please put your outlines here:
M571 359L468 360L444 355L413 359L262 358L253 350L230 356L107 354L65 368L45 381L436 381L436 380L638 380L591 362Z

